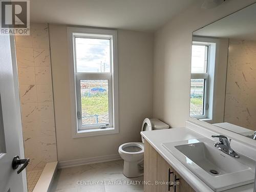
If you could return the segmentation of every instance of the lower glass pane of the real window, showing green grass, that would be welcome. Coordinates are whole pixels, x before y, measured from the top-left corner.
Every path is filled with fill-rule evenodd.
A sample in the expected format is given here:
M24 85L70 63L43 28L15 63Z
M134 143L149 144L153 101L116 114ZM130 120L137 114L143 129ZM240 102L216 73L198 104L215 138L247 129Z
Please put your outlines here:
M80 80L82 125L109 124L108 80Z

